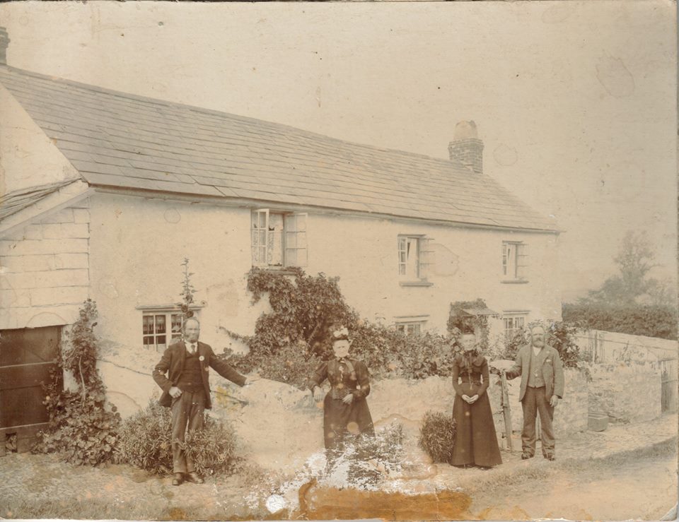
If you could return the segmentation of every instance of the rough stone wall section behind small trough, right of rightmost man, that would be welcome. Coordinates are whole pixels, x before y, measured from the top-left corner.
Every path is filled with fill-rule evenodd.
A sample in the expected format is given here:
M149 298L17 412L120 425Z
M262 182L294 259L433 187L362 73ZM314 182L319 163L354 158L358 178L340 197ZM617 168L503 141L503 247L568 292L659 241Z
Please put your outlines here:
M661 415L661 373L650 364L593 364L589 409L612 422L639 422Z

